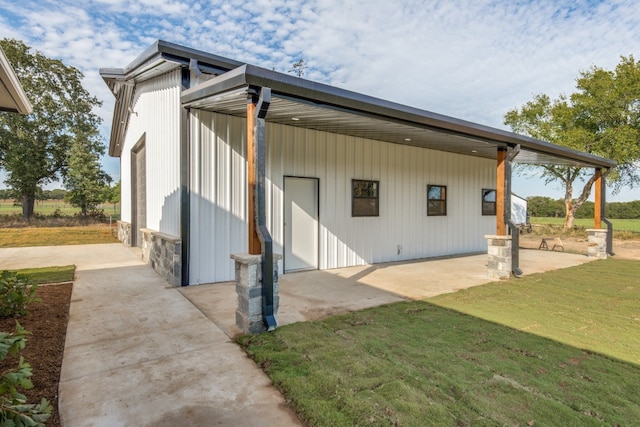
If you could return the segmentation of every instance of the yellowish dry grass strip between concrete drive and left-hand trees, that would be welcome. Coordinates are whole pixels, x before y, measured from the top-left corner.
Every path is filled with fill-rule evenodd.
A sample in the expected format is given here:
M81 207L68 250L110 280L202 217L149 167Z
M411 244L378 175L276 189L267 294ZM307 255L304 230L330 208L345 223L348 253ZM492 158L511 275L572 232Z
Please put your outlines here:
M108 225L0 228L0 248L117 242Z

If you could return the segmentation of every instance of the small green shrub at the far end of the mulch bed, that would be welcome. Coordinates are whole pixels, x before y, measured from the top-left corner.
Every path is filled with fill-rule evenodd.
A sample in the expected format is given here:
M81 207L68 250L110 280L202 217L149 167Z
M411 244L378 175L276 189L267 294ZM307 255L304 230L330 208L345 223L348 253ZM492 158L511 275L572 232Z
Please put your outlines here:
M36 297L38 285L28 276L11 271L0 273L0 317L19 317L27 314L27 306L40 302Z

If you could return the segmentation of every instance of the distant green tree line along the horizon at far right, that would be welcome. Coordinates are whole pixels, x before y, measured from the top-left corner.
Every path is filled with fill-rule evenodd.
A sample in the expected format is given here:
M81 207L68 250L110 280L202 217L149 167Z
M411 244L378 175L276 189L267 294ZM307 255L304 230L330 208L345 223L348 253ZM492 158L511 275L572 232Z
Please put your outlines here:
M550 197L529 197L529 215L533 217L563 218L565 216L564 199ZM576 218L593 218L594 203L590 201L576 211ZM640 200L633 202L611 202L606 205L606 216L611 219L640 219Z

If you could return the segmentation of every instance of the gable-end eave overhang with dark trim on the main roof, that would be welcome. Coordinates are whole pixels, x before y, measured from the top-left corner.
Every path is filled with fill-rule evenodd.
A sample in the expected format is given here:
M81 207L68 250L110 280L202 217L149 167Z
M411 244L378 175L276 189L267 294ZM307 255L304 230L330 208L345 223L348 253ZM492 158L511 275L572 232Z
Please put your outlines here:
M158 40L125 68L100 69L102 79L116 98L109 140L110 156L120 157L136 84L177 68L188 68L191 60L197 61L200 71L213 75L242 65L222 56Z

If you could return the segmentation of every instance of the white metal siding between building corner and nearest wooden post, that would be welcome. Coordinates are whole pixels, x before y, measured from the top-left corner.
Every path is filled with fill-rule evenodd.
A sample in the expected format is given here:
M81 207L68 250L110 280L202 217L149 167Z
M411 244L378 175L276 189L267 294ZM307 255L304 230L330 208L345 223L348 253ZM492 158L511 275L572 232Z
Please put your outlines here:
M246 121L196 110L193 117L190 280L232 280L229 255L247 251Z

